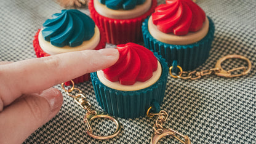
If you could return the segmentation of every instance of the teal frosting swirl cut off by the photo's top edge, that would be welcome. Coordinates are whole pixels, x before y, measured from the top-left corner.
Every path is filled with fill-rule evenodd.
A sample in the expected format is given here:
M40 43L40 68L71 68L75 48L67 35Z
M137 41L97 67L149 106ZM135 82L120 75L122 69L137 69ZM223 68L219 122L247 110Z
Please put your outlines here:
M110 9L134 9L135 6L143 4L145 0L98 0Z

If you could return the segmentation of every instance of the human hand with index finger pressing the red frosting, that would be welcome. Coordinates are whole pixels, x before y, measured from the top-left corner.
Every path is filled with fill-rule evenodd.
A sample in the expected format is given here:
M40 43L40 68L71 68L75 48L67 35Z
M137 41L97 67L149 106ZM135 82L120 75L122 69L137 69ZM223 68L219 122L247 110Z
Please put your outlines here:
M0 143L22 143L54 118L63 97L49 87L107 68L118 58L117 49L101 49L0 62Z

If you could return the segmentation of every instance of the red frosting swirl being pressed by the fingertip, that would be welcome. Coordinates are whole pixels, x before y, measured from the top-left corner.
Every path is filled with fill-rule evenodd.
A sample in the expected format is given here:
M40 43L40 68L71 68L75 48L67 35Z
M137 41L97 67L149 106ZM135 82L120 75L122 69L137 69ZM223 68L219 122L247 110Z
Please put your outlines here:
M106 79L119 81L123 85L132 85L136 81L144 82L158 69L158 60L153 52L143 46L129 42L119 44L119 60L110 68L103 70Z

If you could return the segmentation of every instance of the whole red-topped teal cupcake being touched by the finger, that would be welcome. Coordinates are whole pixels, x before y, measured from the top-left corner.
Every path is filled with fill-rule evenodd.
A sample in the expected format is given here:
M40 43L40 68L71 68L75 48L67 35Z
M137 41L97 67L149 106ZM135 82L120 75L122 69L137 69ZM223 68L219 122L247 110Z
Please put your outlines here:
M98 103L113 116L145 116L152 102L162 103L168 66L164 58L134 43L120 44L119 60L91 73Z

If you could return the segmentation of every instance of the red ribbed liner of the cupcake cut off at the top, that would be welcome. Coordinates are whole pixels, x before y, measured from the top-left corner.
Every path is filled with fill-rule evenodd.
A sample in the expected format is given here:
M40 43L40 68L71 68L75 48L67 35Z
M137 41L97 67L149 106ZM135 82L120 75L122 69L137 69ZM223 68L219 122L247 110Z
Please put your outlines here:
M105 29L106 42L111 44L126 44L127 42L138 42L142 40L142 22L148 15L154 12L157 5L158 2L153 0L148 12L139 17L127 20L108 18L98 14L94 8L94 0L89 1L88 8L94 22Z

